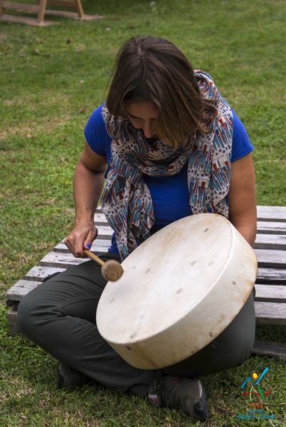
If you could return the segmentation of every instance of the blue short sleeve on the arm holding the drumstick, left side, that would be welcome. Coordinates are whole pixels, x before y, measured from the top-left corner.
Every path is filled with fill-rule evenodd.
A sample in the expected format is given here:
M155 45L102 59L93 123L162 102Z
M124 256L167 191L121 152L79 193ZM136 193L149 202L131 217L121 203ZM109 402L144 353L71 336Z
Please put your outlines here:
M104 156L107 159L107 162L109 162L111 157L111 138L107 134L105 122L101 115L103 105L104 104L97 107L90 115L90 118L85 125L85 139L92 151L100 156Z

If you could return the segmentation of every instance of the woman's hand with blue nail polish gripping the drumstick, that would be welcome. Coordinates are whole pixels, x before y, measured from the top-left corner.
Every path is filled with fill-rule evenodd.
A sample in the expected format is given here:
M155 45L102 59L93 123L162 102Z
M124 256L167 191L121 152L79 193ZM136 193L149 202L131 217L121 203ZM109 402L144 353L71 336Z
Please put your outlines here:
M90 248L97 237L97 228L93 222L78 223L65 238L64 243L75 257L86 258L84 248Z

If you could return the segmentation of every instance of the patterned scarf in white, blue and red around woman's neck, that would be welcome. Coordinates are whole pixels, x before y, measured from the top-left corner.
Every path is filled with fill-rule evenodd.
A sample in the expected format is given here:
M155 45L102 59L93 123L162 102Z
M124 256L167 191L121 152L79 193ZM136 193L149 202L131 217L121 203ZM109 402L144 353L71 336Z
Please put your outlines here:
M110 120L112 137L102 211L115 231L122 260L150 236L154 224L152 199L143 174L174 175L188 162L192 213L212 212L228 217L233 115L211 76L201 70L195 76L202 96L216 101L218 115L209 132L190 138L186 147L176 151L160 139L150 144L142 130L135 129L128 119L119 118L115 125L107 107L102 107L105 124Z

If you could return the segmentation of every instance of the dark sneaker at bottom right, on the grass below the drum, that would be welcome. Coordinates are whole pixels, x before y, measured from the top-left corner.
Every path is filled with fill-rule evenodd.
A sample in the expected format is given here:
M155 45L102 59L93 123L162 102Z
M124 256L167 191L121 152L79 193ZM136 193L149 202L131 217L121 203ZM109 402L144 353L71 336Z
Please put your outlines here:
M203 384L199 379L163 376L149 389L152 406L181 409L194 421L208 418L208 407Z

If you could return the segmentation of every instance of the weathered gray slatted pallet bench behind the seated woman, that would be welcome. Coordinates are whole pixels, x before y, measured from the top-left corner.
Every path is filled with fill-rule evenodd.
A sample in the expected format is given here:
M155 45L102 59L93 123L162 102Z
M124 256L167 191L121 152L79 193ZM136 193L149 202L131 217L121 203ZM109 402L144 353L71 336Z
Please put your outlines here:
M95 223L97 239L92 243L92 251L98 255L106 253L110 246L112 228L97 209ZM258 324L286 325L286 207L258 206L258 234L255 241L258 258L258 277L255 283L255 317ZM86 260L75 258L63 241L52 252L31 268L23 279L6 292L7 315L11 334L17 334L17 307L22 297L40 285L45 278L61 272L71 265ZM255 342L253 354L281 357L286 361L286 344L275 342Z

